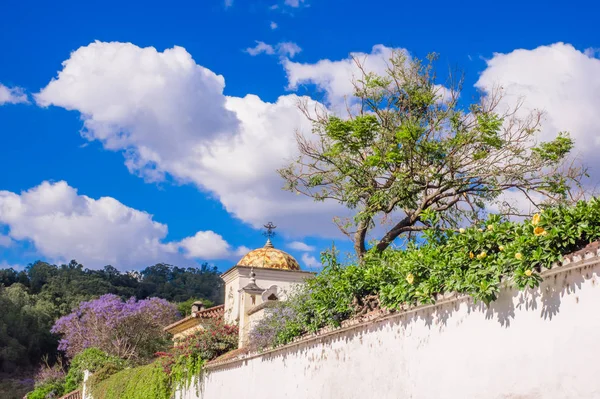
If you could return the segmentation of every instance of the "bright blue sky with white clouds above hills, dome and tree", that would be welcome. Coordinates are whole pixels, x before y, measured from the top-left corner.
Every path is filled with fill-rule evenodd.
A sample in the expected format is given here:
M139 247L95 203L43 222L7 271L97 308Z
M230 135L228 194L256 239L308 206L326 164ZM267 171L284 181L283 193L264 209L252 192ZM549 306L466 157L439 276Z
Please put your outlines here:
M272 173L307 128L292 96L334 109L350 53L376 69L392 48L437 52L440 72L464 69L464 101L475 84L505 85L548 111L542 134L570 130L594 168L598 7L523 3L7 2L0 267L225 269L262 246L268 221L305 267L332 241L350 251L331 222L341 210L278 191Z

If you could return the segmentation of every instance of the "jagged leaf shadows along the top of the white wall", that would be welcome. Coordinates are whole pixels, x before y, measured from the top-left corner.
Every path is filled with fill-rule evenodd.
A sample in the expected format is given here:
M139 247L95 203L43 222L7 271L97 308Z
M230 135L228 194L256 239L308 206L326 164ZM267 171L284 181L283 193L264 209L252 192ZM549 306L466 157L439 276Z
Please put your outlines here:
M597 265L597 259L595 264ZM401 338L410 328L411 324L418 320L423 320L425 325L431 328L437 328L439 331L444 331L447 327L450 317L458 311L461 306L466 304L467 312L464 313L461 319L456 319L457 324L462 323L462 319L469 314L477 312L485 315L488 320L495 319L505 328L510 328L511 321L515 318L515 309L528 311L538 311L539 317L551 320L560 312L561 301L567 294L573 294L581 289L582 284L591 280L592 285L596 285L598 281L598 272L594 271L594 265L582 266L573 264L572 270L569 266L560 267L557 270L546 270L542 276L544 280L539 287L519 291L516 288L505 287L501 290L498 300L492 302L489 306L482 302L474 303L473 299L468 296L461 296L455 299L450 299L446 303L438 303L436 305L422 306L408 311L399 313L391 313L386 316L363 322L353 326L342 327L333 331L315 334L303 338L298 342L288 344L284 347L267 351L259 354L262 362L269 362L275 359L280 359L285 366L288 356L294 359L298 357L306 357L307 365L305 369L315 367L320 360L327 359L329 356L345 356L342 351L335 349L335 344L348 343L349 341L359 340L362 343L362 337L367 334L376 333L382 330L395 330L398 338ZM576 297L577 300L577 297ZM398 328L400 327L400 328ZM427 338L425 338L425 341ZM325 349L323 343L332 344L331 349ZM426 343L426 342L422 342ZM315 354L313 350L321 347L321 351ZM232 361L222 365L216 365L214 368L206 370L223 371L244 367L250 358ZM202 391L205 378L200 378L200 391Z

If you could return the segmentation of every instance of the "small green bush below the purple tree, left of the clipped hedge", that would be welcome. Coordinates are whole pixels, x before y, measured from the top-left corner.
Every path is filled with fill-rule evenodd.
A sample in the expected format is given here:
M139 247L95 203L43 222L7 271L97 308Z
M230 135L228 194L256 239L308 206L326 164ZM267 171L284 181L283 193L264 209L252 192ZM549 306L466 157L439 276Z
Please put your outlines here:
M98 348L87 348L73 357L69 372L65 378L65 392L71 392L81 386L85 370L95 373L104 368L113 374L123 370L128 362L116 356L110 356Z

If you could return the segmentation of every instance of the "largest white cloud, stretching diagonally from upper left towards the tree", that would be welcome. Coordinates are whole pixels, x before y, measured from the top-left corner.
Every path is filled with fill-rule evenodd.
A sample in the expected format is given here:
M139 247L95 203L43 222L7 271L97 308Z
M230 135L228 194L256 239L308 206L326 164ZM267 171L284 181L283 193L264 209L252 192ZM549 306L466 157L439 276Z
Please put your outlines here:
M283 191L276 173L297 155L295 132L311 132L301 98L268 103L226 97L223 87L180 47L96 42L73 52L36 100L79 111L83 137L123 152L146 180L193 183L257 228L274 220L293 236L337 235L339 205Z

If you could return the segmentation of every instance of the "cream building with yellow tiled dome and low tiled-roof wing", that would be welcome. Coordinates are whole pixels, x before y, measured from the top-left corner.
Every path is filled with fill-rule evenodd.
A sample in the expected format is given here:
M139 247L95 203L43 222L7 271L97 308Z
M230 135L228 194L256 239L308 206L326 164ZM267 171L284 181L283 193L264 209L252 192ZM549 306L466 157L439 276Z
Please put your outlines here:
M223 317L225 323L239 327L242 348L248 343L253 325L264 317L265 309L285 300L295 286L313 275L301 270L293 256L276 249L269 238L264 247L250 251L221 275L225 282L224 305L203 309L200 303L199 307L192 307L190 316L165 327L165 331L177 340L203 328L202 324L211 318Z

